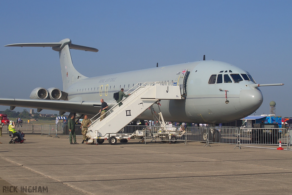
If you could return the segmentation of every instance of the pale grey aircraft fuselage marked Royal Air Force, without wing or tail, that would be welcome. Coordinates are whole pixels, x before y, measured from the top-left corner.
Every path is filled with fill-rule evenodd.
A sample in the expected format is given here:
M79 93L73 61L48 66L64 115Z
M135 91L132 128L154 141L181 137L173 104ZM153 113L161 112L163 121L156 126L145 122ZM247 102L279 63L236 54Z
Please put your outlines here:
M187 70L189 73L183 75L183 70ZM239 74L242 81L235 82L230 74ZM160 108L164 120L223 123L248 116L263 103L262 92L257 87L253 87L255 83L252 79L245 80L241 74L249 75L245 70L229 63L197 61L86 78L70 85L66 92L69 100L99 101L104 99L110 104L114 101L115 92L124 88L126 93L138 82L178 82L182 94L186 94L186 99L162 100ZM216 75L219 82L215 77L215 83L209 84L211 75ZM221 83L219 75L223 77ZM225 79L225 75L228 75L230 80ZM95 115L99 109L98 107L87 107L81 113ZM154 106L154 109L158 111L157 106ZM137 119L152 120L153 118L148 110Z

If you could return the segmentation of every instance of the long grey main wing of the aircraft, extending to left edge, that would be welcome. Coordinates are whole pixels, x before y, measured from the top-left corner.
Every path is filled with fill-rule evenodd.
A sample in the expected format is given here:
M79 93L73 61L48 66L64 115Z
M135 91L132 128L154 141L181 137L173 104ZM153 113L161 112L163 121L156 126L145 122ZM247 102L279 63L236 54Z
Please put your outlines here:
M96 115L101 107L100 101L64 101L14 98L0 98L0 105L26 108L41 108L46 110L82 113L88 115Z

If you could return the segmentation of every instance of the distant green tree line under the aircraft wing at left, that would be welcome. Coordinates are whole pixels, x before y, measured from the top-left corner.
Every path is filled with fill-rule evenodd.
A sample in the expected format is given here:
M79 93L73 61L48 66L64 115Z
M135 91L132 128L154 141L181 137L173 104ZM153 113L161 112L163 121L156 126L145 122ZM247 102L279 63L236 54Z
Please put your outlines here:
M55 119L57 116L60 116L58 114L54 114L53 117L41 117L39 116L40 113L33 113L30 114L27 109L23 109L22 112L15 112L15 111L11 111L10 109L6 109L5 111L0 111L1 114L7 114L8 118L22 118L22 119L30 119L30 118L39 118L39 119L47 119L47 120L51 120L51 119Z

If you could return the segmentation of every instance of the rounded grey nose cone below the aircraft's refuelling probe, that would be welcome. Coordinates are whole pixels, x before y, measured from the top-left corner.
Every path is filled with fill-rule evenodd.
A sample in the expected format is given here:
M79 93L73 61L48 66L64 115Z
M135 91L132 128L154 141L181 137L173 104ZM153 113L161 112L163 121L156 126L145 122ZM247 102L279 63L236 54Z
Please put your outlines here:
M254 112L262 105L263 94L258 89L243 89L239 94L239 101L245 110Z

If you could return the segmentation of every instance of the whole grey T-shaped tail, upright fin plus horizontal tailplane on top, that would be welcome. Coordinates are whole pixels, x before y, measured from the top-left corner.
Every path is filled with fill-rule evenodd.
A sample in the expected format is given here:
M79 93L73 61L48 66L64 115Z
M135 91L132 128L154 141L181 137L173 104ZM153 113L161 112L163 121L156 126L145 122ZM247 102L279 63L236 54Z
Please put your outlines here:
M17 43L9 44L5 46L10 47L52 47L54 51L59 51L61 72L63 79L63 91L66 91L68 87L82 79L87 78L81 75L73 66L70 49L78 49L83 51L98 52L98 49L92 47L86 47L81 45L75 45L71 43L70 39L63 39L56 43Z

